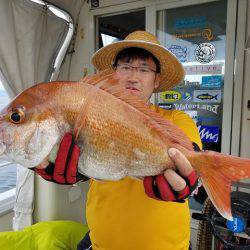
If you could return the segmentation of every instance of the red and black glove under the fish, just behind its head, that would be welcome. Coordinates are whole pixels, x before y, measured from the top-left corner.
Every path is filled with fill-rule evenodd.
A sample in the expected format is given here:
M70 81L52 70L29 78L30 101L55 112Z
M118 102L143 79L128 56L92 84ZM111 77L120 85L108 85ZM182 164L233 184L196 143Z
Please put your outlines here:
M60 143L55 164L50 163L46 168L33 170L47 181L71 185L87 178L77 171L80 148L75 144L71 133L66 133Z

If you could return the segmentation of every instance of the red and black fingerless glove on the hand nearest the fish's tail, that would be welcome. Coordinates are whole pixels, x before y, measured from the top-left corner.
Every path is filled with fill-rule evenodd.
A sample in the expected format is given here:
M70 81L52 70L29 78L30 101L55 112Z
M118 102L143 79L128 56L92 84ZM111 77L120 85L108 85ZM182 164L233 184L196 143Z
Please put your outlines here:
M143 180L146 194L154 199L163 201L183 202L197 187L198 177L193 170L187 177L182 177L187 185L179 192L176 192L169 185L163 174L157 176L146 176Z

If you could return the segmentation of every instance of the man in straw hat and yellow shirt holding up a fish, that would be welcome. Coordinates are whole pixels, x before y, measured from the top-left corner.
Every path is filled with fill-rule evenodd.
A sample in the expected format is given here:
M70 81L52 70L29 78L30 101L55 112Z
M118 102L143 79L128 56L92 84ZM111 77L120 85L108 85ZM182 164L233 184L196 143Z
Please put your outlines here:
M176 57L161 46L155 36L144 31L133 32L124 41L100 49L93 56L93 64L98 70L113 68L126 91L147 103L153 92L171 89L184 77L183 67ZM188 115L176 110L151 108L178 125L195 147L201 148L198 129ZM61 145L64 143L62 141ZM184 199L196 187L197 178L180 151L169 149L168 153L178 173L166 170L159 176L149 176L143 181L129 177L115 182L90 181L86 217L93 249L189 248L190 215L188 201ZM58 162L61 155L59 150ZM76 172L76 165L69 166L71 170L67 171L66 161L63 162L59 167L56 164L50 179L55 179L57 169L61 176L66 172ZM66 181L72 176L68 178L66 174ZM86 237L81 244L87 241Z

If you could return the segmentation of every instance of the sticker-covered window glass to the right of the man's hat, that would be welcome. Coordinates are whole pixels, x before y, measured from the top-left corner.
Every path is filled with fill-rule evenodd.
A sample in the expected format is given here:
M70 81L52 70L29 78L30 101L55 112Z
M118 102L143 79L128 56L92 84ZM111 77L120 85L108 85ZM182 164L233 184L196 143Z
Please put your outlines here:
M182 63L183 82L160 93L164 109L186 112L197 124L203 149L221 151L227 1L157 12L157 36ZM191 208L201 204L190 199Z

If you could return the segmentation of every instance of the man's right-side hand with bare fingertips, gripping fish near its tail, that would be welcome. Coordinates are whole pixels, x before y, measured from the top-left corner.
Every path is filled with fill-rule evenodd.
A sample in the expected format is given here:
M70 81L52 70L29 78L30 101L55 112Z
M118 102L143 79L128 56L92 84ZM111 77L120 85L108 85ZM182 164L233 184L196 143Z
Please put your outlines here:
M183 202L196 189L198 177L188 159L179 150L171 148L168 154L177 170L167 169L161 175L145 177L145 192L154 199Z

